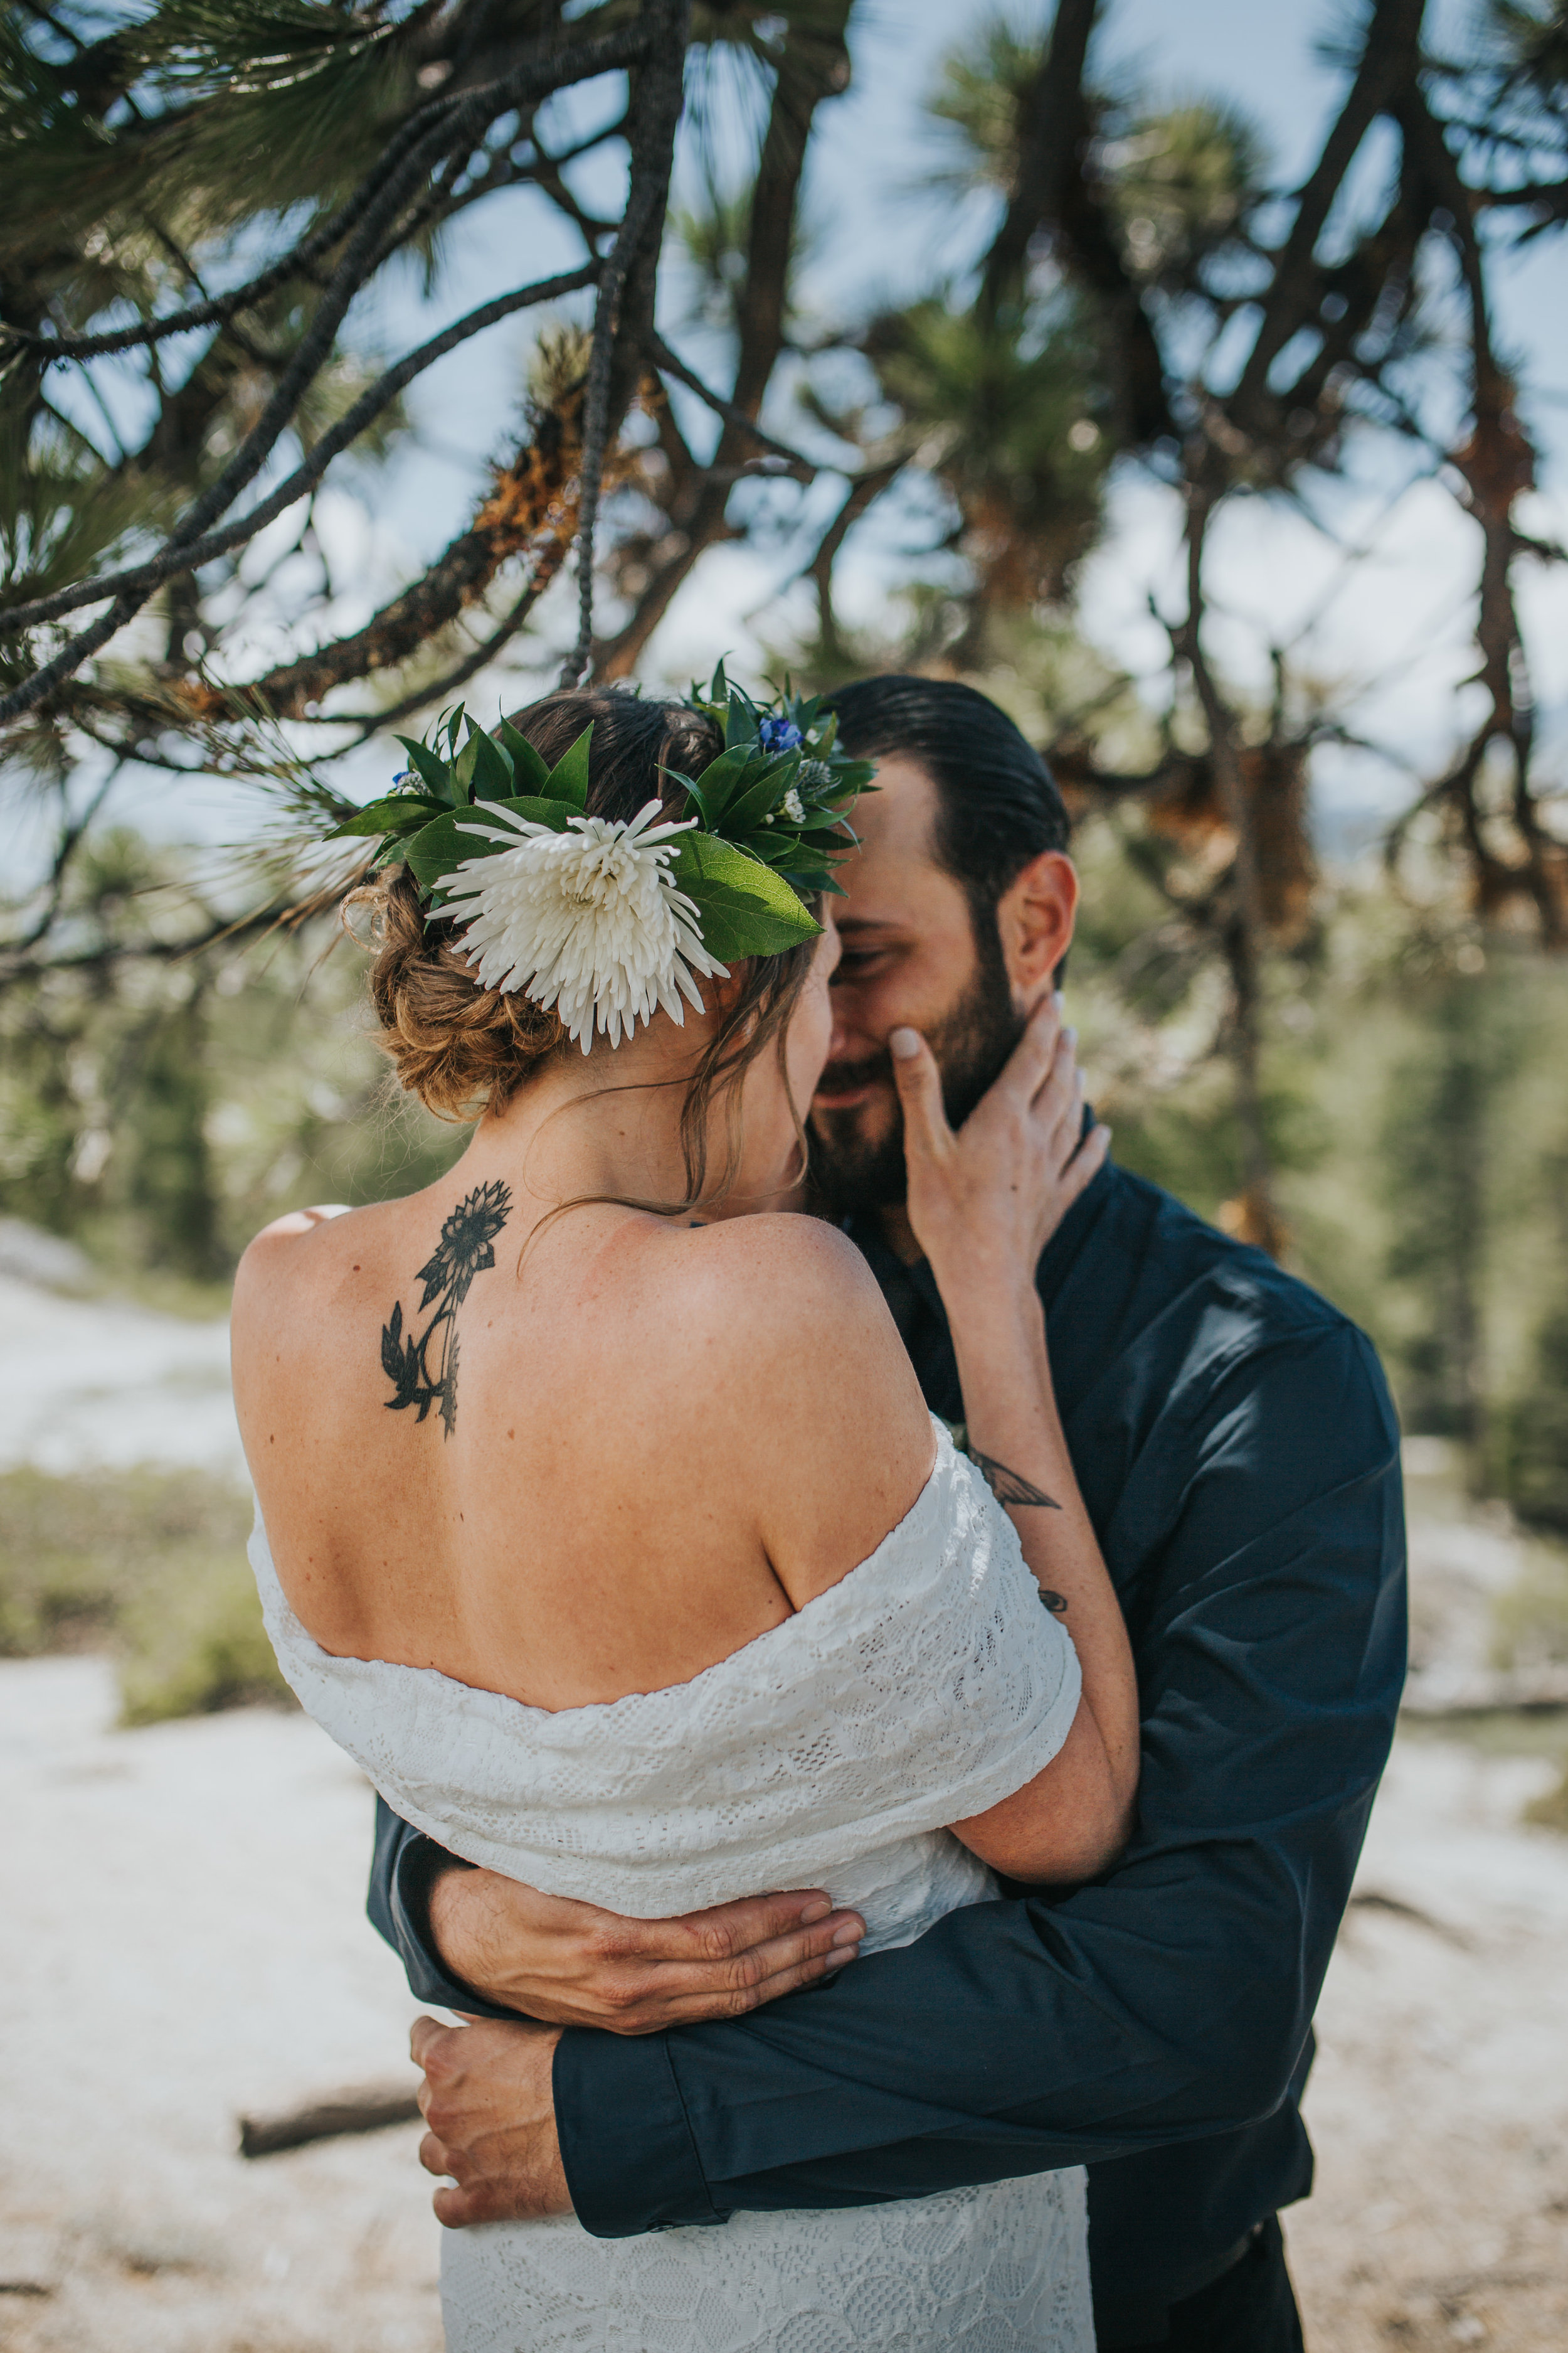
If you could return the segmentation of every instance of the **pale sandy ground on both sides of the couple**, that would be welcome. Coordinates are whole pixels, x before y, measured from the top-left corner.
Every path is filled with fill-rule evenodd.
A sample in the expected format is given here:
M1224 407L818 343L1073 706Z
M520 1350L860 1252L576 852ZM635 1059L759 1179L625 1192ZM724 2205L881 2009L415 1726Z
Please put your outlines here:
M125 1461L134 1426L141 1452L230 1459L221 1334L35 1289L19 1311L21 1452ZM1521 1555L1418 1468L1441 1680L1483 1664ZM0 1661L0 2346L437 2353L418 2129L235 2151L242 2111L402 2066L364 1781L299 1715L113 1715L99 1659ZM1314 2353L1568 2344L1568 1838L1521 1821L1563 1746L1563 1718L1401 1734L1319 2012L1319 2186L1286 2217Z

